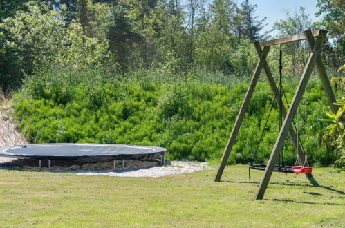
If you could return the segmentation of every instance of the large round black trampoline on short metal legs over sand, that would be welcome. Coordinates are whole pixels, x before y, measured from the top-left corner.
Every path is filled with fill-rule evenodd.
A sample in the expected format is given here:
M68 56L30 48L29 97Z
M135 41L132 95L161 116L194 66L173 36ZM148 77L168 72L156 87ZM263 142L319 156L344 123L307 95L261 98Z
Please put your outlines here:
M159 160L165 164L167 149L157 146L136 146L124 144L27 144L0 148L0 156L10 158L30 158L39 161L39 171L42 160L48 160L48 170L51 170L52 160L77 160L79 158L102 158L113 160L113 171L116 161L125 160Z

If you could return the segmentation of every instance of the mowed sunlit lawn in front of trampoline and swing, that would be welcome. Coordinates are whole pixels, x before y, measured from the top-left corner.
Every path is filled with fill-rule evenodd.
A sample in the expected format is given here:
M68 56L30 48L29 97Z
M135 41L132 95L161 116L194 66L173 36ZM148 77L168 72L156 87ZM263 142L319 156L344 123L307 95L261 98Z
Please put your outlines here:
M263 172L226 167L162 178L118 178L0 170L0 227L341 227L345 175L314 169L274 173L265 200L252 200Z

